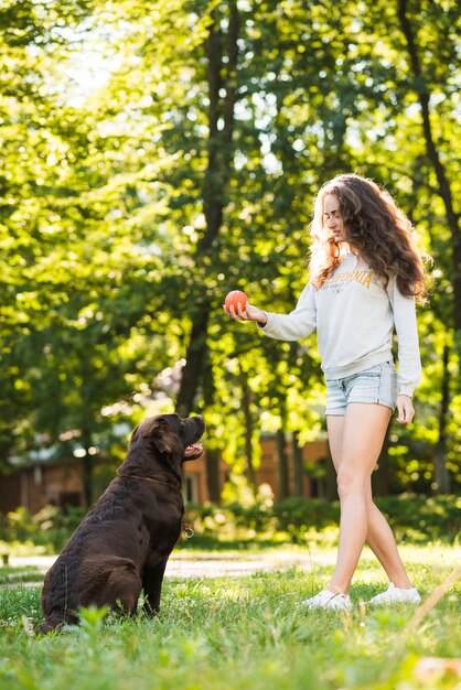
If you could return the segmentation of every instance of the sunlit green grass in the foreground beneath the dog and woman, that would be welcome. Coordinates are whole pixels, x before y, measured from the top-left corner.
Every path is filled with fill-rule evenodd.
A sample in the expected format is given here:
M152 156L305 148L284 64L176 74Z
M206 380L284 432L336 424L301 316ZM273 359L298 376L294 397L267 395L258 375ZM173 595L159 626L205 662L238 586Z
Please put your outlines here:
M403 547L410 576L428 596L459 565L459 548ZM192 554L191 554L192 556ZM245 553L240 554L245 558ZM0 596L2 690L447 690L461 678L421 675L424 657L460 656L460 584L421 617L415 611L305 612L297 604L324 586L331 567L244 578L167 580L161 614L104 618L36 636L40 589ZM385 586L365 554L355 602Z

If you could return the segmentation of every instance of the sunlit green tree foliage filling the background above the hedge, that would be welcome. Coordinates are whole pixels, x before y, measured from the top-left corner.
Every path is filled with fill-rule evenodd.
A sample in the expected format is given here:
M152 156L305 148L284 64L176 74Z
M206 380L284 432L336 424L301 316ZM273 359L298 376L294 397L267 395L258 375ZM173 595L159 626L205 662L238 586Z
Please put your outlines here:
M315 435L324 389L313 342L269 342L225 321L221 305L242 288L270 311L292 309L312 198L354 170L396 196L435 258L420 315L419 445L414 454L395 430L392 488L438 490L437 445L458 490L459 208L448 213L420 105L428 97L432 143L459 198L457 8L406 4L421 75L397 2L341 12L333 0L2 4L1 465L43 446L83 451L90 483L118 422L174 407L175 385L159 375L184 367L202 312L192 393L210 448L250 471L260 431ZM208 246L211 206L219 223ZM409 455L419 463L410 484Z

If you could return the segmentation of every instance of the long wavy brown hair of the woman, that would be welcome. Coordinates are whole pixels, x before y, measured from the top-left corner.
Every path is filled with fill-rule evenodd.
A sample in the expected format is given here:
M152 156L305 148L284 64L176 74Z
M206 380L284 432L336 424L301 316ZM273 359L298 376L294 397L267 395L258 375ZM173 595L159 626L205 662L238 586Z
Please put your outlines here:
M320 288L340 262L340 248L324 219L324 200L329 194L337 197L351 250L383 278L385 287L395 276L401 294L424 301L427 276L410 220L390 194L373 180L353 173L326 182L315 198L311 224L312 284Z

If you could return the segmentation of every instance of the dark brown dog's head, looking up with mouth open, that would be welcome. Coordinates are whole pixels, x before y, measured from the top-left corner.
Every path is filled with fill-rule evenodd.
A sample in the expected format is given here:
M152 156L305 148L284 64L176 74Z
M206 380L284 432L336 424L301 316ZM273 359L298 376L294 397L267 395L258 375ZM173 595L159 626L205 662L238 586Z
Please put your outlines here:
M151 417L132 432L128 455L117 472L129 474L141 471L143 476L149 476L152 471L170 468L180 476L183 462L202 455L203 444L197 441L204 431L203 417Z

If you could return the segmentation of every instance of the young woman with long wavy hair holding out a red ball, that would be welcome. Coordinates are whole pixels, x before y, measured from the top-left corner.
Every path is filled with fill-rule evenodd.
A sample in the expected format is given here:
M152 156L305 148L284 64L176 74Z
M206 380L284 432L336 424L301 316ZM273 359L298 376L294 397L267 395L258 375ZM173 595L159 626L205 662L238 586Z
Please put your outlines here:
M311 226L310 281L290 314L247 304L230 308L274 338L297 341L317 330L326 380L326 427L341 504L336 567L309 608L349 610L349 589L365 541L389 579L371 604L419 603L393 532L372 498L376 465L390 417L414 418L412 392L421 365L415 300L425 268L411 224L373 181L339 175L319 192ZM398 377L392 344L398 339Z

